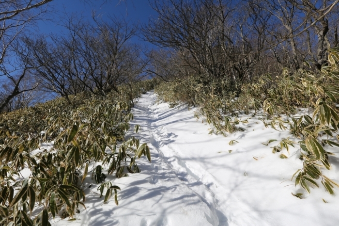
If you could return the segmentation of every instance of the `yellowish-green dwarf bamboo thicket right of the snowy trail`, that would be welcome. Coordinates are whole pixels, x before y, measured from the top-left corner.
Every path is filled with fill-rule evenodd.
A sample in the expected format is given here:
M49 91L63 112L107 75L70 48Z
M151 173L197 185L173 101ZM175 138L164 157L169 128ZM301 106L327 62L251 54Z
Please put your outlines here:
M237 84L232 89L224 78L210 79L204 76L190 76L162 82L155 87L159 101L166 101L173 107L186 103L189 107L197 107L195 117L202 115L208 124L213 125L210 132L227 133L244 131L236 125L241 119L238 114L248 114L249 117L260 115L259 119L265 127L290 130L299 141L282 139L272 147L272 152L280 152L283 148L289 151L289 146L300 146L300 160L303 167L292 178L295 185L300 185L308 193L309 187L319 187L320 183L330 193L334 194L334 186L339 184L326 177L326 170L331 169L326 147L339 146L333 138L339 140L339 48L332 48L328 55L328 65L321 72L299 69L291 73L284 69L281 75L262 75L253 81ZM307 113L293 116L301 109ZM263 113L263 115L262 115ZM283 119L282 114L288 119ZM233 117L233 119L232 119ZM246 120L242 121L246 123ZM267 142L272 143L275 139ZM288 158L284 154L280 158ZM302 198L302 194L295 194Z

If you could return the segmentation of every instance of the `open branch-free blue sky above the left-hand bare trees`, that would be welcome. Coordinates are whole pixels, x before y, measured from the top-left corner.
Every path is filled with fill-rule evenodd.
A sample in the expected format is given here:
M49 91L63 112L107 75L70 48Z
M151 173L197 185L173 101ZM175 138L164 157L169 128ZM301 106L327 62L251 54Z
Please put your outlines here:
M51 21L39 21L39 33L62 32L63 27L58 25L58 21L66 14L77 14L91 21L92 11L95 15L101 15L103 19L108 16L124 17L131 23L148 23L150 16L156 16L156 12L151 8L148 0L124 0L119 4L119 0L92 0L90 3L84 0L54 0L49 4L52 13L48 15ZM132 41L142 43L148 47L153 45L141 41L134 37Z

